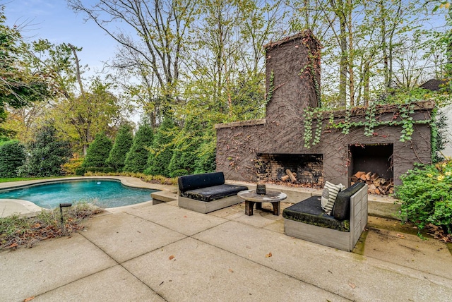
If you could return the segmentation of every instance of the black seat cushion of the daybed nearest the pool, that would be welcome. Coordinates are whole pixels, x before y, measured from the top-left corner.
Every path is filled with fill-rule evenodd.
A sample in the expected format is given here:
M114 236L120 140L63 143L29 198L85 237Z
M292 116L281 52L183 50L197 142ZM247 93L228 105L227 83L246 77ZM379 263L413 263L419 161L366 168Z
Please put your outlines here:
M210 186L207 188L197 188L195 190L184 191L181 192L181 196L209 202L220 198L237 195L237 193L244 190L248 190L248 188L245 186L223 184L220 186Z

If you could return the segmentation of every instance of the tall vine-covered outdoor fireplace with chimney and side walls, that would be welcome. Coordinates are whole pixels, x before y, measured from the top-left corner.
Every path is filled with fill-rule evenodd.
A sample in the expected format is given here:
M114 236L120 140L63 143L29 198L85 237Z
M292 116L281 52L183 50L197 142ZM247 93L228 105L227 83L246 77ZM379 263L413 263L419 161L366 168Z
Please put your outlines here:
M316 143L307 142L304 131L309 123L304 121L304 110L318 106L320 48L310 31L266 45L266 118L215 126L217 171L230 180L287 186L317 187L325 181L350 186L363 178L372 186L378 182L383 186L375 186L378 191L370 193L391 193L415 162L432 163L428 121L434 102L410 105L410 121L422 121L412 123L410 140L401 139L400 111L378 105L371 116L363 107L324 114L323 121L310 123L311 136L321 136ZM371 132L364 126L350 126L347 131L328 126L347 120L362 125L367 119L383 123L374 123ZM287 171L295 181L287 180ZM358 172L364 174L357 176Z

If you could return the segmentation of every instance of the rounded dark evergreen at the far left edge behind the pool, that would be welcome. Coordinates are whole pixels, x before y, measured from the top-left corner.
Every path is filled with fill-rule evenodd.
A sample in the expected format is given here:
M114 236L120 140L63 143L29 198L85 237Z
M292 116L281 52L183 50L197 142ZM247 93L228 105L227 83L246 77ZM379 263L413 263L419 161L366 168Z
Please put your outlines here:
M17 177L25 158L25 146L17 140L0 145L0 177Z

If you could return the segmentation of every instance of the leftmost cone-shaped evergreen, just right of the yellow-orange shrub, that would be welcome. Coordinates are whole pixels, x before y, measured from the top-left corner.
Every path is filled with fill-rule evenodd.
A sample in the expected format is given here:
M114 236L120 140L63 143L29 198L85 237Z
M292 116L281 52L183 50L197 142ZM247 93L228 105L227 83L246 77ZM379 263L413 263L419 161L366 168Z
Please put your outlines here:
M108 167L107 158L112 150L112 141L105 133L97 133L95 140L88 147L83 167L88 171L97 171Z

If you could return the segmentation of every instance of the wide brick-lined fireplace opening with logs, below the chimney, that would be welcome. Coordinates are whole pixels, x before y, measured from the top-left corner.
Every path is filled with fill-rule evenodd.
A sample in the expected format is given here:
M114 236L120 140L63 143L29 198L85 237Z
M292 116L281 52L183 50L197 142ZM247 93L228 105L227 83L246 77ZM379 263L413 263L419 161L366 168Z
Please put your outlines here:
M258 182L321 188L323 155L258 154L255 162Z

